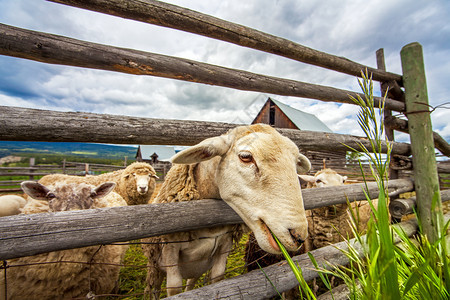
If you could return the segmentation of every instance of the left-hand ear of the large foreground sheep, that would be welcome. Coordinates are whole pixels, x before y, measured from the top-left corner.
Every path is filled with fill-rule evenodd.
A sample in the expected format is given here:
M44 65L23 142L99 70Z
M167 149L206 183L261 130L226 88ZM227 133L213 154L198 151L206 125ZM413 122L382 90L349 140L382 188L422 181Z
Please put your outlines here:
M230 149L231 141L228 135L221 135L206 139L199 144L192 146L175 154L171 161L174 164L193 164L221 156Z

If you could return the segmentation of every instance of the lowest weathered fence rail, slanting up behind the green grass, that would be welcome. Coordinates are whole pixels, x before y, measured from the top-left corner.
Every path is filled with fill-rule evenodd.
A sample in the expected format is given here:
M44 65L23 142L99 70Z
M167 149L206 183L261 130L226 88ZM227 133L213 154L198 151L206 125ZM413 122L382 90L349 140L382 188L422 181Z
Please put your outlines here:
M408 236L416 233L418 228L416 220L409 220L394 226L400 226ZM362 238L365 239L365 236ZM395 238L395 242L399 242L398 237ZM350 243L354 246L357 253L362 256L362 248L356 239L350 240ZM330 269L330 265L345 266L349 263L349 259L344 255L343 251L348 251L348 244L345 241L313 250L310 253L314 256L319 266ZM296 265L300 266L303 278L306 281L311 281L318 277L318 273L308 254L294 256L292 260ZM270 282L267 278L270 279ZM273 288L272 284L276 286L280 293L298 286L298 281L286 261L266 267L264 272L253 270L249 273L221 280L166 299L270 299L278 296L278 292Z

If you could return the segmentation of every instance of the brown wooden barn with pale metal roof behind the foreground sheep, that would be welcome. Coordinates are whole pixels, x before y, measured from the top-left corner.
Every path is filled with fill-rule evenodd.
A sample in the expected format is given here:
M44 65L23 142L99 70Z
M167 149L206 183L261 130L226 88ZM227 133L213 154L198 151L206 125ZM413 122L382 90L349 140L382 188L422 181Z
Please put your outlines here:
M267 99L258 115L253 120L252 124L256 123L269 124L276 128L333 133L333 131L315 115L292 108L289 105L272 98ZM305 151L303 151L303 153L305 153ZM319 171L324 165L326 165L327 168L336 170L345 168L346 152L306 151L305 154L311 160L312 169L310 173Z

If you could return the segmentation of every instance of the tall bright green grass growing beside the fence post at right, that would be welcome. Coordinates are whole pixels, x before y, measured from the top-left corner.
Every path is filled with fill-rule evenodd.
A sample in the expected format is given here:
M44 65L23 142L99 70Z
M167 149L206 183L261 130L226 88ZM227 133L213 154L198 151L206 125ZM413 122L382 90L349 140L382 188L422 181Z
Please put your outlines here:
M327 278L323 275L344 280L351 291L349 299L450 299L450 237L447 235L450 221L440 229L439 239L435 243L430 243L426 236L420 233L415 239L410 239L398 228L390 226L388 192L384 185L384 181L388 179L391 151L389 142L387 159L383 160L381 155L384 130L381 116L384 104L379 107L377 114L371 78L363 74L359 83L365 98L358 97L353 100L360 106L358 123L371 146L366 149L361 145L361 149L371 162L372 175L378 183L378 208L375 209L371 205L374 216L369 221L365 238L361 237L354 226L356 240L362 247L356 248L354 244L348 243L348 250L342 250L350 260L348 266L334 266L334 269L328 271L319 268L316 263L316 269L326 285ZM367 200L371 203L369 195ZM442 211L433 208L437 207L438 195L430 200L433 203L432 210L438 214L438 218L442 218ZM399 244L394 243L394 234L400 237ZM289 256L285 257L289 261ZM314 257L310 255L310 258L315 263ZM299 277L301 270L298 266L290 265L307 299L316 299L304 284L303 278Z

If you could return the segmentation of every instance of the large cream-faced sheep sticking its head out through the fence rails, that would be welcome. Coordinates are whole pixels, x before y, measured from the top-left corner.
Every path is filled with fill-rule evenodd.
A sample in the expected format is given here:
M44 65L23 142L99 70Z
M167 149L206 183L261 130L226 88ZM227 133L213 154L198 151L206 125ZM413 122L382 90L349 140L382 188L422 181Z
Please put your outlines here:
M181 151L172 162L153 203L222 199L255 232L260 246L272 253L280 249L271 232L290 250L306 239L297 173L307 172L311 165L272 127L237 127ZM191 289L208 270L212 281L220 280L240 232L240 226L230 225L146 239L150 242L143 245L149 258L146 292L158 298L165 274L169 295L182 291L183 279Z

